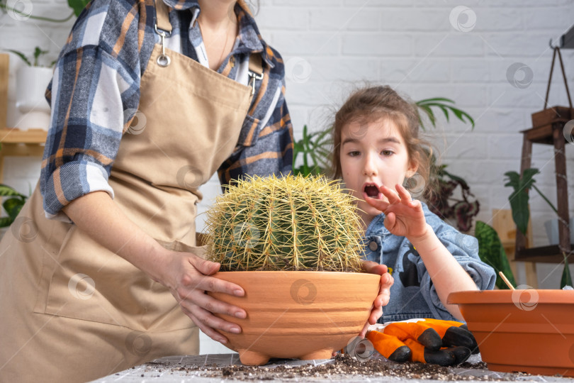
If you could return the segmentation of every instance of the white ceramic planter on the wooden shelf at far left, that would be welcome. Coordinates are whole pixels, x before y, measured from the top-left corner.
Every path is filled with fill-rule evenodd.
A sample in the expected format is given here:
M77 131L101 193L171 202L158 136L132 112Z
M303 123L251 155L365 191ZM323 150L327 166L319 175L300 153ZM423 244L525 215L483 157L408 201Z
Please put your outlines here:
M45 99L47 84L52 79L52 68L21 66L16 74L16 108L23 116L17 128L47 130L50 126L50 105Z

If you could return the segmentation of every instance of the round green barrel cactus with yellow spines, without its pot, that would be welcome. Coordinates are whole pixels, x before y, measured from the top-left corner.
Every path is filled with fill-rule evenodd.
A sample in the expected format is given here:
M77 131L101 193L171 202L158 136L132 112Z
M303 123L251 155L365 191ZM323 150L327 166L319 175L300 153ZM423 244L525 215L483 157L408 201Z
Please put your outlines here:
M361 270L354 197L325 177L247 177L207 216L208 260L220 271Z

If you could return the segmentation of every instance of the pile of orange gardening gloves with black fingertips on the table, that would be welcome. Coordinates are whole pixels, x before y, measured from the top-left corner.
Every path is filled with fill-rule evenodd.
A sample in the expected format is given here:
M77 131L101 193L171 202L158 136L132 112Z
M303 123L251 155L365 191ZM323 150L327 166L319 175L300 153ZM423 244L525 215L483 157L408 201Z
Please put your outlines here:
M371 326L366 338L388 360L458 365L478 353L478 345L466 325L438 319L410 319Z

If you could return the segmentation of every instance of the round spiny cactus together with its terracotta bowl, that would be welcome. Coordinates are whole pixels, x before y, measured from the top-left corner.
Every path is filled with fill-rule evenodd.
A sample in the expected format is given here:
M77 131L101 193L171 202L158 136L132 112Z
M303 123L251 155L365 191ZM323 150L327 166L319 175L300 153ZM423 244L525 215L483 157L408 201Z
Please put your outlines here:
M244 289L209 293L247 318L216 314L242 328L227 347L245 365L270 357L329 359L366 323L380 276L361 272L354 197L325 177L243 179L207 212L214 277Z

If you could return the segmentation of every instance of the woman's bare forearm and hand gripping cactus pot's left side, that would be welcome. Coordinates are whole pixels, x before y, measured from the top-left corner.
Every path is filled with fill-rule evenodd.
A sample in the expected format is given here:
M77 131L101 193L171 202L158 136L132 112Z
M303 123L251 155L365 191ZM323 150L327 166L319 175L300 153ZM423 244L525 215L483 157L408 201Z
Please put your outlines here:
M239 307L218 301L206 292L223 292L243 296L237 284L210 277L219 270L218 263L199 257L199 253L174 252L159 245L150 235L135 225L114 204L106 191L74 199L64 207L78 228L97 243L145 272L154 281L163 284L179 302L184 313L213 340L226 343L227 338L216 330L240 333L235 323L217 318L213 313L225 313L237 318L247 315ZM196 248L199 252L201 248Z

